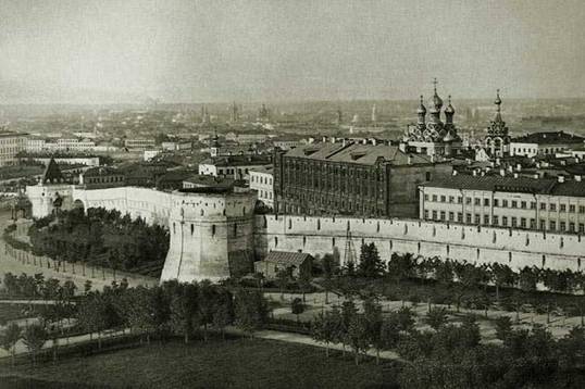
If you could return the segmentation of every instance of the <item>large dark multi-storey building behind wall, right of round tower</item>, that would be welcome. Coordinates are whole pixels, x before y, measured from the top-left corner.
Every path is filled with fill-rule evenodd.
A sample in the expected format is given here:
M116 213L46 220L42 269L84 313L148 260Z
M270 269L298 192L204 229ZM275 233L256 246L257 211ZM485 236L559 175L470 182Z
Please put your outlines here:
M416 217L418 186L451 174L447 161L409 154L375 140L275 150L275 211Z

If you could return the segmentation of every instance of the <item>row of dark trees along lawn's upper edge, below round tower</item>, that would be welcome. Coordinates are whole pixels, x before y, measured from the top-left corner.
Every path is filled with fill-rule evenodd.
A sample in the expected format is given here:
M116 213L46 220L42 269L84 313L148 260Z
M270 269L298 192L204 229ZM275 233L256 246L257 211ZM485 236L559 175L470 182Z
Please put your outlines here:
M127 283L114 281L102 291L86 290L75 302L60 300L47 305L40 314L39 324L26 328L9 325L0 337L0 347L14 355L14 344L22 338L35 361L47 340L53 339L53 357L57 359L57 340L63 336L60 323L71 318L75 322L75 329L89 334L90 340L97 335L98 349L102 347L103 332L115 329L129 329L140 342L147 343L153 337L161 341L182 337L185 343L197 335L203 340L212 332L224 337L225 328L231 325L253 337L266 323L270 313L269 303L261 292L232 291L208 280L191 284L173 280L152 288L129 288Z

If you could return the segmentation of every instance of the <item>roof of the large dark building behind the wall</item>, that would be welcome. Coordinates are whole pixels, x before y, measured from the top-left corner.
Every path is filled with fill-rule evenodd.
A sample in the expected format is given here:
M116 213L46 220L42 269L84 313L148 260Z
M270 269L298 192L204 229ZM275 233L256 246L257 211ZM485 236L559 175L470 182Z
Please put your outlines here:
M297 147L285 153L286 156L324 160L332 162L359 163L373 165L378 159L391 162L394 165L427 164L431 158L421 154L410 154L397 146L363 145L363 143L310 143Z

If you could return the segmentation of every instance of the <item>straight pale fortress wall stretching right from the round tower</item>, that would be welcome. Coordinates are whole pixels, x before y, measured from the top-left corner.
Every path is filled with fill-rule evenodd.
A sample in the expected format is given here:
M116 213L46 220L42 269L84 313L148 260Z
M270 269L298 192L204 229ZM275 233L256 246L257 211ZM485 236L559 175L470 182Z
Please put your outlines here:
M585 239L577 235L413 219L285 215L259 215L256 226L259 256L265 255L266 250L302 250L314 255L335 252L344 261L349 229L354 256L359 256L362 242L374 242L384 260L396 252L475 263L499 262L513 268L544 265L577 271L585 258Z

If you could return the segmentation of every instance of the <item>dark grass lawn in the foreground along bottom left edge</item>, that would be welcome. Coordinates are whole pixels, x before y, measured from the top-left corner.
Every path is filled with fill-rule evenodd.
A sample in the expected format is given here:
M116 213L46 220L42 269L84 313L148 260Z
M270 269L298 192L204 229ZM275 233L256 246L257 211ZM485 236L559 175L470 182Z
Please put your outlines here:
M152 343L34 368L5 367L0 382L11 374L45 381L29 386L35 388L75 382L116 388L373 388L383 382L383 367L371 360L354 366L351 355L326 359L320 348L242 338Z

